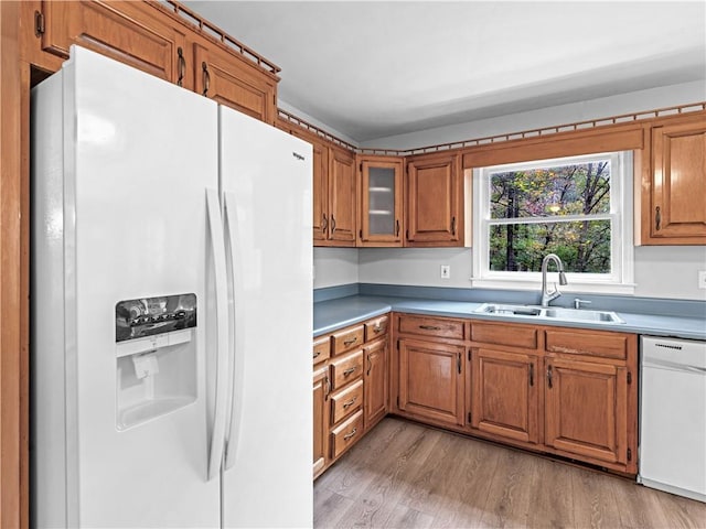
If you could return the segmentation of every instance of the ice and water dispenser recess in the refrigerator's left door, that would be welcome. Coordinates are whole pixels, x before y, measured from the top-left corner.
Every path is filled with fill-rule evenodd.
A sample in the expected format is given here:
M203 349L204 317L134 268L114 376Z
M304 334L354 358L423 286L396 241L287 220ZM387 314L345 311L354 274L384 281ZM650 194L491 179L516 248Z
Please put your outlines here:
M196 400L196 296L120 301L116 427L125 430Z

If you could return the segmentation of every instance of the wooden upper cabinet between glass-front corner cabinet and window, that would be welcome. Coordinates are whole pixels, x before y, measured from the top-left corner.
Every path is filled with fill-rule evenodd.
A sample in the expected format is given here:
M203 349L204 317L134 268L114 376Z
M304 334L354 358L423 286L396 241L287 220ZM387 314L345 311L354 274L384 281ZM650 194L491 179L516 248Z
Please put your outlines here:
M463 246L463 179L458 154L410 159L405 196L405 246Z

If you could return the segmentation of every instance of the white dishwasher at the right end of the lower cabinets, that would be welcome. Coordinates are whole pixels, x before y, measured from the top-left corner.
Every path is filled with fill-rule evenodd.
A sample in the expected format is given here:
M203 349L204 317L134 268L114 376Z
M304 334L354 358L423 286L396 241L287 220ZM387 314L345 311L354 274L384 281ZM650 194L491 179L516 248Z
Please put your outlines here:
M638 482L706 501L706 342L640 342Z

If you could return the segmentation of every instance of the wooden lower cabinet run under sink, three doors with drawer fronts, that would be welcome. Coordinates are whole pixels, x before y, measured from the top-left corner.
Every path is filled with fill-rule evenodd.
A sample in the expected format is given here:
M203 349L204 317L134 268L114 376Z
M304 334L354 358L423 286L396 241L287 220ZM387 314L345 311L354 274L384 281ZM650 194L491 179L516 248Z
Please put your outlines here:
M637 335L418 314L394 321L395 413L638 473Z

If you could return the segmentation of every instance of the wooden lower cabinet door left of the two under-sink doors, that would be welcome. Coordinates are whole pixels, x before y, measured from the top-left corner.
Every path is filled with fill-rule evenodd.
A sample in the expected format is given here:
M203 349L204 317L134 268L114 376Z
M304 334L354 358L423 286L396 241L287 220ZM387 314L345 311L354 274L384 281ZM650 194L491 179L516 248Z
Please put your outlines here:
M399 341L400 411L435 423L463 424L463 357L458 345Z

